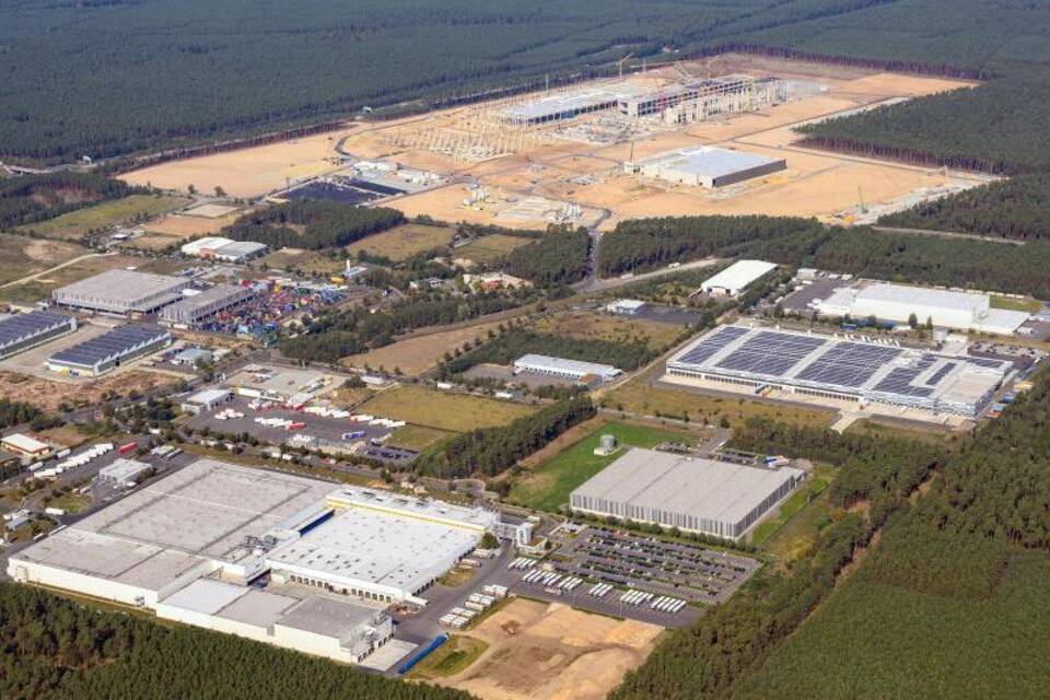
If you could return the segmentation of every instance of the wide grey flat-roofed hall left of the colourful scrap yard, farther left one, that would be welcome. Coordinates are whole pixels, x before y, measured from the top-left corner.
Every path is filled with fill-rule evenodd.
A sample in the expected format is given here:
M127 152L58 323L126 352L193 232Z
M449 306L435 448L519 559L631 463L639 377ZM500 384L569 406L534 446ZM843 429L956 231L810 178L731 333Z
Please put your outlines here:
M135 270L108 270L51 292L59 306L103 314L149 314L182 299L190 281Z

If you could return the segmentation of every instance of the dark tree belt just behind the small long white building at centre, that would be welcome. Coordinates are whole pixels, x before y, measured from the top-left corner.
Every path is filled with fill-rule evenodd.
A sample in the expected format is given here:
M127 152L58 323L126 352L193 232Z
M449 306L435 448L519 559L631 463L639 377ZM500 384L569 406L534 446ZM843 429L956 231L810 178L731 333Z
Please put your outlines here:
M596 338L569 338L523 328L501 334L495 339L454 358L442 366L446 375L462 374L482 364L510 364L529 352L568 360L611 364L625 371L634 370L656 357L644 342L614 342Z

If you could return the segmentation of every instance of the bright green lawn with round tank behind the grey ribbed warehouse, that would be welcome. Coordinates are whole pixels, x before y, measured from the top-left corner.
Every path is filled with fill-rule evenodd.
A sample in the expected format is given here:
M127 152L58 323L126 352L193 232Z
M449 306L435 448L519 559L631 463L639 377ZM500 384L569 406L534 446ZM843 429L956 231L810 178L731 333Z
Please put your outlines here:
M611 455L594 454L602 435L616 435L620 445ZM689 433L660 430L635 423L606 423L586 438L522 475L511 487L508 500L538 511L557 512L569 494L584 481L623 455L623 446L654 447L662 442L696 442Z

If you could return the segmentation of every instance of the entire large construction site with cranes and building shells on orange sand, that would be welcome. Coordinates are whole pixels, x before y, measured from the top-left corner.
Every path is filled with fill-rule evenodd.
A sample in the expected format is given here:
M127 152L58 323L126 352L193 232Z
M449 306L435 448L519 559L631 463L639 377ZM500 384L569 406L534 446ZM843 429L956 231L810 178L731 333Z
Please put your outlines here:
M362 162L371 170L425 173L422 186L382 192L388 195L383 205L412 217L518 229L557 223L608 230L625 219L742 213L850 225L989 176L801 148L794 128L972 85L727 54L360 125L329 135L327 155L312 142L314 161L296 158L296 174L360 180ZM176 161L125 177L170 180L176 188L213 180L228 191L265 195L300 182L284 168L272 177L253 168L250 183L241 186L241 161L271 162L272 149L283 156L291 144Z

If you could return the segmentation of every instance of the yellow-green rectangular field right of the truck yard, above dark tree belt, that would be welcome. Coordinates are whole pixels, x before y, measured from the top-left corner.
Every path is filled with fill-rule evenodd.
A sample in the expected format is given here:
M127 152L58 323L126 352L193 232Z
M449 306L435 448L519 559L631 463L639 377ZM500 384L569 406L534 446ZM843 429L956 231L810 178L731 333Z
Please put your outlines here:
M406 384L382 392L357 410L380 418L462 433L478 428L506 425L534 413L537 408Z

